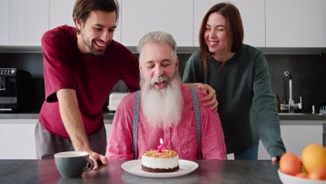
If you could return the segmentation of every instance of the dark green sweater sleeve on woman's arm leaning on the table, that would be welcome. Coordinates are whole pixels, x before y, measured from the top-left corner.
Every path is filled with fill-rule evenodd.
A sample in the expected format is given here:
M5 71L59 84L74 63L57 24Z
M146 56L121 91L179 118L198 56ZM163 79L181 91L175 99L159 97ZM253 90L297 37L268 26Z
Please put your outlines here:
M281 138L277 101L272 93L267 61L261 53L255 59L253 90L252 105L263 146L272 157L283 155L286 148Z

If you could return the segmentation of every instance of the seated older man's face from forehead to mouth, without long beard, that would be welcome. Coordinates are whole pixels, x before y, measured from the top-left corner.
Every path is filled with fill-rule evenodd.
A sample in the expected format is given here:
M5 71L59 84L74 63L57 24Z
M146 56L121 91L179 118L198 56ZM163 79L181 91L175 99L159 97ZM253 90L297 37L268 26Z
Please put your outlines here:
M176 75L178 58L172 55L171 46L162 43L146 43L141 52L139 70L146 84L164 89Z

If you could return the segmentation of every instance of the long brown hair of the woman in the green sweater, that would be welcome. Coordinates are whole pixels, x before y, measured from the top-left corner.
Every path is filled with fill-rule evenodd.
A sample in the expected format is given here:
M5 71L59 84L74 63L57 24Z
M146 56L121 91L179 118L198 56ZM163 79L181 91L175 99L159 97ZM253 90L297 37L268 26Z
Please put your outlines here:
M199 45L201 46L201 57L205 71L208 67L208 54L212 53L210 53L208 46L205 43L204 34L208 17L212 13L219 13L219 15L222 15L226 19L226 36L228 38L228 46L231 49L231 52L237 52L240 49L244 35L241 16L237 7L232 3L217 3L212 6L203 17L201 29L199 31Z

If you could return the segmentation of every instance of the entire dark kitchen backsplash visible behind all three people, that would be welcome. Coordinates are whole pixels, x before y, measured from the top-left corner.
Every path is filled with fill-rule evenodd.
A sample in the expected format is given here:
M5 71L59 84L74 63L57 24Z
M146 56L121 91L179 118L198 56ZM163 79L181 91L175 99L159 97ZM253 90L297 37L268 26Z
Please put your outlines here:
M138 54L136 54L138 56ZM180 76L183 76L185 63L191 54L178 54ZM293 99L300 101L302 96L302 111L311 112L311 106L316 110L320 105L326 105L326 59L322 55L265 55L270 69L272 90L279 95L283 103L288 100L288 79L284 71L293 76ZM27 70L32 75L33 105L31 112L39 112L45 99L44 79L42 72L41 53L0 53L0 68L19 68ZM127 91L123 82L119 82L113 91ZM104 111L107 110L104 105Z

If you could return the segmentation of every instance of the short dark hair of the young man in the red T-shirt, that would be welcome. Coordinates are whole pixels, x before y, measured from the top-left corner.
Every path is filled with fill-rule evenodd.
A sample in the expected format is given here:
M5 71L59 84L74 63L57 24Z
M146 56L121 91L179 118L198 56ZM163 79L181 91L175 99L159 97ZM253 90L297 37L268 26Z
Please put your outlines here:
M76 24L76 20L81 19L86 22L89 13L93 10L102 10L105 12L116 12L116 21L118 21L119 4L116 0L77 0L74 9L72 10L72 19ZM77 33L80 30L77 27Z

